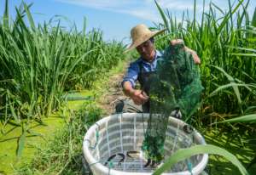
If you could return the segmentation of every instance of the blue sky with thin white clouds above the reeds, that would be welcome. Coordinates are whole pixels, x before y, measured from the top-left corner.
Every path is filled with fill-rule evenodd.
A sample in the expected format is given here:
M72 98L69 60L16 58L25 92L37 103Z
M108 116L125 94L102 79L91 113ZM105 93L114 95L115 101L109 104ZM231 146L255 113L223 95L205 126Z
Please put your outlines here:
M131 28L137 24L154 26L162 22L154 0L23 0L33 3L31 11L36 23L61 18L61 25L69 30L75 23L82 30L84 17L86 29L100 28L106 41L119 40L130 42ZM230 0L238 3L238 0ZM247 0L244 0L247 2ZM0 16L3 16L4 1L0 1ZM15 6L21 0L9 0L9 13L15 18ZM188 10L193 17L194 0L157 0L162 8L168 8L177 20L182 18L183 11ZM205 0L206 8L210 0ZM228 0L212 0L222 9L228 9ZM200 19L203 0L196 0L196 15ZM249 16L253 17L256 1L251 0L248 6ZM57 17L58 16L58 17Z

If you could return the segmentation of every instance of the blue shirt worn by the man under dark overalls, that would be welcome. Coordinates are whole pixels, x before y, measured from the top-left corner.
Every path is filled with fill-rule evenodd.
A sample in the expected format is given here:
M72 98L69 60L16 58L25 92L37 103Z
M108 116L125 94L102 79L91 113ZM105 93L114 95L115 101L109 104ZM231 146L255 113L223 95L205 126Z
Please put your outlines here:
M124 82L131 82L132 87L135 87L135 83L137 81L138 74L140 72L140 64L143 65L143 71L149 72L149 71L155 71L156 65L158 60L160 60L162 54L160 51L156 50L156 54L154 55L154 59L151 63L144 60L142 57L138 58L136 61L132 62L128 68L128 71L124 77L124 80L122 82L122 86Z

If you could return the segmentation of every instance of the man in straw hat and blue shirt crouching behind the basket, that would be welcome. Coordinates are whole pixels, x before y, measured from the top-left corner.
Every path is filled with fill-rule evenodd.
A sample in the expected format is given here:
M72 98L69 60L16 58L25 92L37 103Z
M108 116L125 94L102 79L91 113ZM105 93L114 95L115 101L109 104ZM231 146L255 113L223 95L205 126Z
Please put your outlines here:
M124 104L118 104L116 107L117 112L129 112L126 105L136 108L137 105L143 107L143 112L149 112L149 101L148 101L148 91L149 91L149 80L150 76L154 74L158 59L161 57L160 51L154 48L154 36L160 34L165 30L161 31L150 31L146 25L136 25L131 29L132 43L125 52L128 52L134 48L140 54L140 58L135 62L132 62L128 68L128 71L122 82L123 91L126 96L130 97L132 101L126 101ZM173 40L171 44L176 44L178 42L183 42L182 40ZM195 64L200 64L200 59L198 58L195 51L186 48L193 55ZM135 89L135 83L139 82L141 89ZM132 102L134 104L132 104ZM121 108L123 109L120 109Z

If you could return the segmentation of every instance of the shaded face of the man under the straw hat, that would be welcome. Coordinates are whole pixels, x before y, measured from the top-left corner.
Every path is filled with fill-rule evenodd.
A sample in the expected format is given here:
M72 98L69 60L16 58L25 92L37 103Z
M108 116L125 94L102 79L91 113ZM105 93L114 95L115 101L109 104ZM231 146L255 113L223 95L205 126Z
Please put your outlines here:
M136 49L143 59L149 62L154 59L154 43L150 40L143 42L141 45L137 46Z

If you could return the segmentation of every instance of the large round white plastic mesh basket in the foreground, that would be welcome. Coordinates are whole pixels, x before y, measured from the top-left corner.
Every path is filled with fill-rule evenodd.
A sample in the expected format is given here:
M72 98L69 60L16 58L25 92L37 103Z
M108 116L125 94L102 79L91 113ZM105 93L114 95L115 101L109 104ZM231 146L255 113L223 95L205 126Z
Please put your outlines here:
M145 166L148 162L142 151L148 114L123 113L104 117L84 136L84 158L93 174L152 174L156 167ZM165 158L176 150L195 144L206 144L201 134L186 133L185 122L170 117L164 146ZM127 154L128 153L128 154ZM129 153L135 153L129 155ZM111 161L110 161L111 158ZM207 166L208 155L195 155L178 162L164 174L200 174ZM188 168L188 162L192 170Z

